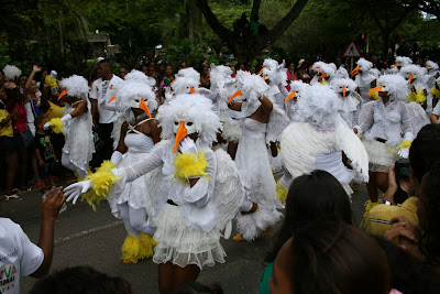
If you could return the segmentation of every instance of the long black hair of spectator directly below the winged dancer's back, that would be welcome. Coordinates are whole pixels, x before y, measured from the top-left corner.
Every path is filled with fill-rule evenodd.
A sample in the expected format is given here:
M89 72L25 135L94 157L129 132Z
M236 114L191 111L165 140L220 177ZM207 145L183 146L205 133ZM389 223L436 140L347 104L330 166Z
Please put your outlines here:
M279 249L298 228L318 218L337 218L352 224L349 196L341 183L324 171L301 175L290 184L286 199L286 216L278 230L272 252L265 261L274 261Z

